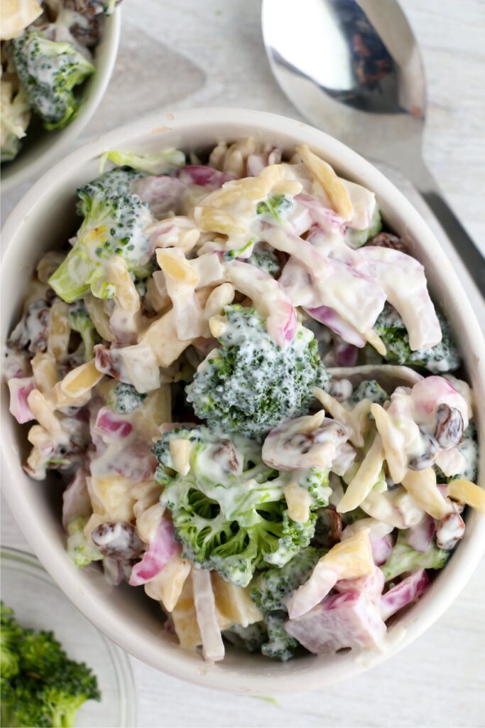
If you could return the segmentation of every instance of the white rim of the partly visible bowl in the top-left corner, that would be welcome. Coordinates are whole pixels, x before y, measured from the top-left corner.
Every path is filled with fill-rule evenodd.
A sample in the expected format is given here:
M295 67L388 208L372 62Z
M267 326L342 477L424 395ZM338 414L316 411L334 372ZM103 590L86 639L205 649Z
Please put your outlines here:
M76 114L75 118L63 130L55 135L48 149L39 154L36 159L25 166L15 169L16 159L9 162L9 166L1 174L1 191L2 194L15 189L15 187L36 178L39 173L44 172L49 165L52 165L56 159L59 159L65 149L79 137L81 132L87 127L87 124L94 116L97 107L100 106L101 100L105 95L108 84L113 75L113 68L118 55L119 39L121 33L121 7L116 7L113 15L105 18L103 27L103 43L108 46L108 52L102 66L96 66L96 74L93 77L92 84L89 87L89 95ZM96 49L95 49L96 50ZM48 133L48 132L47 132ZM20 160L21 161L21 160ZM12 165L12 167L10 167ZM12 170L10 172L10 170Z

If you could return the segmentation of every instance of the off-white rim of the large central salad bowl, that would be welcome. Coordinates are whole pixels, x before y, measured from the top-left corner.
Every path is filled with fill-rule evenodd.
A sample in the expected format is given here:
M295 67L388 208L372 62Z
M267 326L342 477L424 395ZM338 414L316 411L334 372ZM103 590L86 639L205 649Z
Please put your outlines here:
M470 361L467 360L467 362L470 369L478 375L478 394L482 395L478 401L485 403L485 342L480 327L465 292L452 270L452 266L449 265L438 241L420 214L417 213L417 210L412 207L411 203L396 189L393 183L385 178L385 175L382 175L370 162L367 162L366 159L360 157L340 141L316 130L314 127L308 126L308 124L265 111L217 107L174 111L172 113L159 111L112 130L74 151L44 174L9 215L4 226L5 247L1 261L2 277L8 275L9 251L12 249L15 237L23 226L25 215L28 213L28 217L30 217L39 214L36 208L38 209L39 205L41 205L44 192L47 194L47 191L52 188L57 187L58 189L62 185L63 173L67 173L66 170L82 167L98 157L106 149L113 149L124 144L134 147L137 144L137 138L163 134L167 127L171 131L183 133L191 129L195 131L201 127L210 130L211 124L246 127L246 132L241 131L241 135L244 135L244 133L249 134L250 130L262 130L267 136L273 132L273 134L287 135L294 140L292 143L297 143L297 141L308 143L309 146L318 149L318 152L328 159L332 165L337 167L340 165L347 170L356 170L353 176L361 178L361 180L364 179L366 186L375 191L378 197L393 200L393 205L399 208L398 217L406 220L406 228L414 234L414 237L418 237L423 241L421 243L422 252L433 254L433 268L436 271L438 282L446 279L449 284L450 306L459 309L457 318L468 337L473 338L473 357L470 356ZM163 140L163 136L161 139ZM441 269L439 274L438 269ZM479 409L478 414L482 417L482 415L485 415L485 411L482 412ZM4 408L2 416L5 416L6 419L7 416L10 417L8 408ZM484 455L483 440L482 437L482 457ZM14 448L6 451L2 442L1 450L4 471L9 474L15 473L15 470L22 472ZM254 674L250 676L243 676L235 670L221 669L223 663L202 665L196 660L189 660L185 651L181 648L177 652L165 650L163 647L153 644L148 638L141 638L140 632L135 637L136 625L133 627L127 625L127 620L114 614L113 610L110 612L109 607L108 613L105 613L107 607L105 598L95 593L84 593L84 590L79 586L79 577L76 576L76 571L71 568L67 560L61 560L57 553L58 539L55 539L52 535L48 537L43 531L38 519L35 518L35 510L28 499L26 489L18 488L13 481L14 478L7 478L7 481L4 478L4 493L25 537L60 588L71 598L73 604L81 609L81 612L89 620L95 623L97 628L126 649L127 652L153 668L193 684L225 692L246 695L304 692L318 687L327 687L344 678L356 676L367 668L379 664L414 641L441 617L441 614L452 604L454 598L465 586L485 550L485 516L473 512L468 519L468 522L471 521L472 523L470 533L468 533L467 529L466 539L460 544L460 550L446 567L445 573L448 574L448 578L441 579L439 592L434 590L425 603L420 601L418 605L410 609L409 619L401 620L401 622L406 621L406 625L401 625L398 622L396 628L390 628L388 633L390 639L385 651L379 653L364 652L351 659L348 655L337 655L337 661L329 659L328 664L327 662L322 665L316 665L315 663L316 666L310 666L300 673L297 673L296 670L292 671L290 665L294 663L290 662L282 666L278 676L265 673L264 668L259 672L254 670ZM466 558L463 558L465 551ZM460 568L458 568L459 561ZM420 607L419 615L414 616L417 606Z

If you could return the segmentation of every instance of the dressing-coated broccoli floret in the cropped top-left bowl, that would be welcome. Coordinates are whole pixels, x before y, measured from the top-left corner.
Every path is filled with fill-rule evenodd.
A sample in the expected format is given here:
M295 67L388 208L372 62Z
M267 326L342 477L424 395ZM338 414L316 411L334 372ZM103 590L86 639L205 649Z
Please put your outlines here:
M33 111L48 130L63 129L79 108L73 87L94 73L95 66L72 43L49 41L28 31L12 41L15 68Z

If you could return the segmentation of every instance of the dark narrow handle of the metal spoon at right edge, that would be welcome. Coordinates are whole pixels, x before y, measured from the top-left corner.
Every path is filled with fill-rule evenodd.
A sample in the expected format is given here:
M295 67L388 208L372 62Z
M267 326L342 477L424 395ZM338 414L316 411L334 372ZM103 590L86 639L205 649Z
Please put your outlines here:
M481 250L478 249L476 242L468 234L460 223L457 215L454 214L452 208L444 199L441 190L438 187L433 175L422 162L417 165L414 170L414 184L420 191L425 202L438 218L438 222L449 237L454 249L460 256L465 268L468 270L470 277L476 283L481 295L485 295L485 258Z

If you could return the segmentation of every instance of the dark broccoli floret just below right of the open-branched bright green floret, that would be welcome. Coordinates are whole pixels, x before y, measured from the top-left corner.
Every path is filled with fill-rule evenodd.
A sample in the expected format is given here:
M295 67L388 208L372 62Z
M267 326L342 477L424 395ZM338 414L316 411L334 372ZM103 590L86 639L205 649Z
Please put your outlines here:
M281 569L261 571L250 585L254 604L263 612L286 610L286 598L307 581L324 553L323 549L308 546L295 554Z

